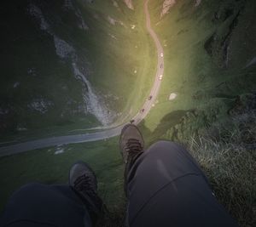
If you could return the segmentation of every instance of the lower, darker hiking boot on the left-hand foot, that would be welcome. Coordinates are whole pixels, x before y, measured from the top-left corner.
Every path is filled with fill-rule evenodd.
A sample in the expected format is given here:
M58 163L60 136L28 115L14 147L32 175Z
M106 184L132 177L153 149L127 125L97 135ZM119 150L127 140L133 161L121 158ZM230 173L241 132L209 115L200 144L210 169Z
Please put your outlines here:
M86 205L93 221L102 214L102 199L97 195L97 180L93 170L84 162L73 164L69 185Z

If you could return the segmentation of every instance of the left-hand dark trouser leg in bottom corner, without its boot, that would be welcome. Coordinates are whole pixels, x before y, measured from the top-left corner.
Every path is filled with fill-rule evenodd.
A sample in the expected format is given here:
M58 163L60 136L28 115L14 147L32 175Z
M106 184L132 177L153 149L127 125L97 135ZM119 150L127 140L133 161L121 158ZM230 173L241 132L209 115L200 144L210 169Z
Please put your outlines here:
M68 185L26 184L9 199L1 226L91 226L83 202Z

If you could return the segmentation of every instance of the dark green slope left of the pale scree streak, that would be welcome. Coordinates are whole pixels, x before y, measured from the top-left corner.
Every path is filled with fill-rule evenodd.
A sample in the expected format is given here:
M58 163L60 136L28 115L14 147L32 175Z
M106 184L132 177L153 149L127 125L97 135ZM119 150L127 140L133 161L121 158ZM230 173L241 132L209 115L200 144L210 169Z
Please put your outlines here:
M11 109L10 119L3 119L9 123L6 131L1 130L4 136L17 133L15 128L18 124L21 127L42 129L49 125L72 123L75 119L79 121L81 117L67 113L67 116L61 119L61 111L67 105L67 99L74 100L70 109L82 105L82 86L73 77L70 66L55 54L53 38L40 31L39 25L32 21L26 10L26 2L7 4L5 20L2 21L5 46L1 54L1 107ZM17 14L19 23L14 16ZM34 69L36 76L28 74L29 69ZM20 86L13 88L17 81ZM63 90L64 86L66 88ZM55 109L49 110L44 116L28 111L27 105L35 97L53 100ZM90 115L82 120L89 125L95 125L97 122L95 117ZM1 129L4 128L2 127L1 124Z

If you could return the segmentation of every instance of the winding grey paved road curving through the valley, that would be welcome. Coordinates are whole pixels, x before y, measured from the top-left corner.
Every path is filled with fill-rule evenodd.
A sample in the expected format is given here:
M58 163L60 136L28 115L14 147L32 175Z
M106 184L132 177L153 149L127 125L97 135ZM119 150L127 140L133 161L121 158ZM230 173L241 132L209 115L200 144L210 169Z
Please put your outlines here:
M159 75L160 74L163 75L164 73L164 58L163 58L163 55L161 56L161 54L163 54L163 48L160 44L158 37L156 36L154 30L151 28L151 25L150 25L150 16L148 13L148 1L149 0L145 0L145 3L144 3L144 11L146 14L146 26L147 26L148 33L153 38L155 47L157 48L158 62L157 62L157 71L154 78L154 85L150 91L150 95L152 95L152 99L150 100L147 99L141 109L144 111L138 112L137 115L133 117L135 124L138 124L143 120L145 116L147 116L152 105L154 104L154 101L160 89L161 81L159 79ZM117 128L110 128L102 132L58 136L58 137L51 137L46 139L32 140L32 141L28 141L28 142L24 142L16 145L3 146L3 147L0 147L0 156L10 156L10 155L21 153L27 150L35 150L35 149L45 148L45 147L55 146L55 145L77 144L77 143L107 139L107 138L111 138L113 136L119 135L124 125L120 125Z

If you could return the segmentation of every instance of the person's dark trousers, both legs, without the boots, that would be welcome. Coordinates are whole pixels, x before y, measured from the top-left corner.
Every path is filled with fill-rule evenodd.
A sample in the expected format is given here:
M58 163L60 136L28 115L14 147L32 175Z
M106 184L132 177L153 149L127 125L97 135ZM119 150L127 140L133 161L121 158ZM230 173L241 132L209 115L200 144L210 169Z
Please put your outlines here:
M182 146L150 146L128 174L126 224L132 227L237 226L192 156ZM11 196L0 226L91 226L90 215L67 185L27 184Z

